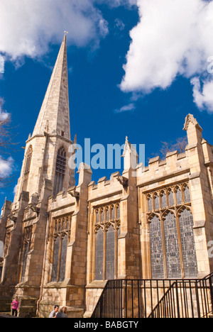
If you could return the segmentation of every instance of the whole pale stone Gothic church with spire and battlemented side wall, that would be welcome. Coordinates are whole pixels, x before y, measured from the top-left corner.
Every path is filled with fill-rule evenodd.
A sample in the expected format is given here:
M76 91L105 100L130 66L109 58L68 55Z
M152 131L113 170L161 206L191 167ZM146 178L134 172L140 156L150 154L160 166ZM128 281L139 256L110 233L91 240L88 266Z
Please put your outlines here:
M55 304L69 317L91 317L107 280L195 280L213 272L213 146L191 114L183 129L184 153L154 157L133 172L136 150L126 139L122 174L95 183L81 163L75 183L65 35L16 196L1 209L0 312L18 296L20 317L48 317Z

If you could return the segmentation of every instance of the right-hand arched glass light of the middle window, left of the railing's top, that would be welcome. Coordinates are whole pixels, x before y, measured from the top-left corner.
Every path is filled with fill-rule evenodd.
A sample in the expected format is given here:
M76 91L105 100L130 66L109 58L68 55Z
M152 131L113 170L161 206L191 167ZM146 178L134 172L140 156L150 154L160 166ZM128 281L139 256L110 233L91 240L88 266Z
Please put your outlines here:
M107 250L106 250L106 279L114 279L114 241L115 231L114 227L110 226L107 231Z

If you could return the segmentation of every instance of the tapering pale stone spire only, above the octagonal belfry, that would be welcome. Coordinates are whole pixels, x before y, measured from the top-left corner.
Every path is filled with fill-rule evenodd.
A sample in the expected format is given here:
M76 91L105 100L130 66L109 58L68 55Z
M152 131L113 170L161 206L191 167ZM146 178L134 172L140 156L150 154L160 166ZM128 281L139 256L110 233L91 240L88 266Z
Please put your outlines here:
M67 78L67 38L62 41L45 99L35 124L33 136L44 132L70 140L70 110Z

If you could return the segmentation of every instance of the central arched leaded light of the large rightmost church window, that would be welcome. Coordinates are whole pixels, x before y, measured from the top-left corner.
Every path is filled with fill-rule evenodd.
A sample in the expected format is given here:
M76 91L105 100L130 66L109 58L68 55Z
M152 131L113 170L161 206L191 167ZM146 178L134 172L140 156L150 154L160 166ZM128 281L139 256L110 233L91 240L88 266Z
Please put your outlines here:
M176 218L171 213L165 217L164 232L168 278L181 278L178 230Z

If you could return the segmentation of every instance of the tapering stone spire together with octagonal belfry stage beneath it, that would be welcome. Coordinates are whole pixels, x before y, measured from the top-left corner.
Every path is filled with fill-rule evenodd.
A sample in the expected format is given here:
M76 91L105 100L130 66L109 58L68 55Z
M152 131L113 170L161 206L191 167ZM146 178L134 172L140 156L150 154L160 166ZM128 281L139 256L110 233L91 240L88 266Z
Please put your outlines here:
M29 135L26 142L14 204L20 198L21 192L28 192L29 197L35 193L40 194L44 179L52 182L54 195L75 184L73 172L67 164L70 145L72 141L65 35L33 135Z

